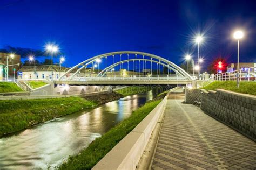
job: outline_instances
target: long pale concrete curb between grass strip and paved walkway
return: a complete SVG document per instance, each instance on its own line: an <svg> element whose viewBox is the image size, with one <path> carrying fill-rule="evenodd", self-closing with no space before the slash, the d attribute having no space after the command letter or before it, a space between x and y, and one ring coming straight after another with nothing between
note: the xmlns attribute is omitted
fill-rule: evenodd
<svg viewBox="0 0 256 170"><path fill-rule="evenodd" d="M92 169L136 169L151 133L164 112L167 96Z"/></svg>

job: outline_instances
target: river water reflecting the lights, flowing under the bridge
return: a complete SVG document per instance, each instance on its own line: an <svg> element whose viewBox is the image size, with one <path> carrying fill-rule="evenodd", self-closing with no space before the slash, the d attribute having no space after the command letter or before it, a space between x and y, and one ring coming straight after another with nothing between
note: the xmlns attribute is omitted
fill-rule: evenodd
<svg viewBox="0 0 256 170"><path fill-rule="evenodd" d="M96 109L56 118L0 138L0 169L55 167L153 97L152 91L127 96Z"/></svg>

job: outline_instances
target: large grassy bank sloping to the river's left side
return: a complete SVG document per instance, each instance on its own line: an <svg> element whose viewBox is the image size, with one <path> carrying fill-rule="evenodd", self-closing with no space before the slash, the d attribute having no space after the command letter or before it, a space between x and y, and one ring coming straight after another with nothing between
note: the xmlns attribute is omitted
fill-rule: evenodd
<svg viewBox="0 0 256 170"><path fill-rule="evenodd" d="M96 105L79 97L0 101L0 137Z"/></svg>

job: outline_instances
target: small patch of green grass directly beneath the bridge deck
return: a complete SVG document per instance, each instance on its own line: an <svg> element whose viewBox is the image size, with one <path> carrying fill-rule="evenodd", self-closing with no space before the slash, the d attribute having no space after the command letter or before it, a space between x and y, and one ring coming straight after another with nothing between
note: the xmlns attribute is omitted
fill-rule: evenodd
<svg viewBox="0 0 256 170"><path fill-rule="evenodd" d="M139 93L145 93L146 91L149 91L149 90L151 90L149 86L130 86L130 87L117 90L116 92L124 96L129 96L129 95L134 95Z"/></svg>

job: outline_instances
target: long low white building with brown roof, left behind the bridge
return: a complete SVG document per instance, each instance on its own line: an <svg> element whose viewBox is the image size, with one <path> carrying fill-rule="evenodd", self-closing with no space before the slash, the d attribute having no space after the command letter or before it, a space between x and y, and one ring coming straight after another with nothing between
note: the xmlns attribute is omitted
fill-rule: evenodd
<svg viewBox="0 0 256 170"><path fill-rule="evenodd" d="M43 80L51 80L51 65L42 65L42 66L23 66L18 70L18 79L28 80L28 79L43 79ZM53 79L59 79L61 75L63 75L70 68L62 67L59 72L59 66L53 65ZM72 70L71 73L67 74L65 77L71 77L77 68ZM75 77L91 77L97 75L96 73L92 73L91 69L82 69Z"/></svg>

